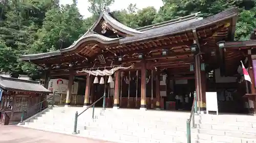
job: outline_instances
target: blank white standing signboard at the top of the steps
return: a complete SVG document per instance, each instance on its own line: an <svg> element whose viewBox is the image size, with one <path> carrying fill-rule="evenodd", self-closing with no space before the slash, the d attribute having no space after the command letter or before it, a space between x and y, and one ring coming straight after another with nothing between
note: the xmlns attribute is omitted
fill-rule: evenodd
<svg viewBox="0 0 256 143"><path fill-rule="evenodd" d="M217 92L206 92L206 112L216 111L218 113Z"/></svg>

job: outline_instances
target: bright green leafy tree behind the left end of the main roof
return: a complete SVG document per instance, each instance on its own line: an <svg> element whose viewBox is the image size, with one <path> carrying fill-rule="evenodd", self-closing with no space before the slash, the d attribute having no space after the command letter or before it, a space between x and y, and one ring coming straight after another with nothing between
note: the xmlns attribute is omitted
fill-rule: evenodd
<svg viewBox="0 0 256 143"><path fill-rule="evenodd" d="M82 26L82 15L78 11L76 2L53 8L46 13L42 28L37 32L38 40L33 43L30 52L67 48L84 33Z"/></svg>

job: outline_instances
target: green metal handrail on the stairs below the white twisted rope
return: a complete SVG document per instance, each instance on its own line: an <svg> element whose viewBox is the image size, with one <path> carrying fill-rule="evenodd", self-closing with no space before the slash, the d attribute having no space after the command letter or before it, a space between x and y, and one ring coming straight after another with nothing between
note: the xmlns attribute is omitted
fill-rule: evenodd
<svg viewBox="0 0 256 143"><path fill-rule="evenodd" d="M86 109L84 109L81 113L78 114L78 112L76 111L75 113L75 123L74 123L74 131L72 134L77 134L77 119L78 117L83 113L85 112L86 110L88 110L89 108L91 108L93 106L93 115L92 115L92 118L94 119L94 108L95 108L95 104L100 101L102 98L103 98L103 107L102 109L105 109L105 96L106 94L104 93L103 96L101 96L98 100L96 100L95 102L93 102L90 106L88 106Z"/></svg>

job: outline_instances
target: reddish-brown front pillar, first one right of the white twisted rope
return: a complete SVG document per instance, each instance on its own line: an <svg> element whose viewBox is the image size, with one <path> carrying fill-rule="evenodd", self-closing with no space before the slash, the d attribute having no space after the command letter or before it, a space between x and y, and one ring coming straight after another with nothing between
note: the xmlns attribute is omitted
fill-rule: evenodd
<svg viewBox="0 0 256 143"><path fill-rule="evenodd" d="M141 66L141 99L140 99L140 109L146 110L146 63L142 61Z"/></svg>

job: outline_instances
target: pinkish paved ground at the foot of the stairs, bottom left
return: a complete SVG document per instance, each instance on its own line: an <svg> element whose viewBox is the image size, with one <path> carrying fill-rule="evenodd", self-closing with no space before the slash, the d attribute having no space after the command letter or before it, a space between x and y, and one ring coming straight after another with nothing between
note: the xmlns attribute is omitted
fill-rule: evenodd
<svg viewBox="0 0 256 143"><path fill-rule="evenodd" d="M15 125L0 125L0 143L113 143L66 134L40 131Z"/></svg>

